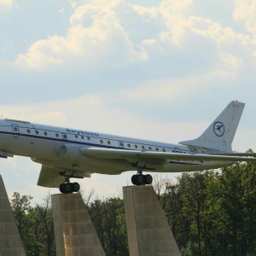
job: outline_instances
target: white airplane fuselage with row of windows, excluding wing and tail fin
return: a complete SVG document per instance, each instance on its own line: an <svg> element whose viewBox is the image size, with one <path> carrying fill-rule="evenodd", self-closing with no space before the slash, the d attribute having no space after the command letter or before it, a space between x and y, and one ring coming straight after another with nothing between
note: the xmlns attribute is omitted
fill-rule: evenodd
<svg viewBox="0 0 256 256"><path fill-rule="evenodd" d="M65 157L61 156L60 148L71 146ZM129 149L141 151L161 151L180 154L193 154L189 147L157 143L129 137L116 137L90 131L59 128L48 125L37 125L12 119L0 120L0 156L16 154L31 157L32 160L67 170L83 173L90 177L91 173L119 174L137 170L132 160L106 160L90 158L79 152L81 147ZM229 166L232 162L224 161L184 161L166 160L164 163L148 162L145 171L149 172L190 172L221 166ZM83 176L81 175L81 176Z"/></svg>

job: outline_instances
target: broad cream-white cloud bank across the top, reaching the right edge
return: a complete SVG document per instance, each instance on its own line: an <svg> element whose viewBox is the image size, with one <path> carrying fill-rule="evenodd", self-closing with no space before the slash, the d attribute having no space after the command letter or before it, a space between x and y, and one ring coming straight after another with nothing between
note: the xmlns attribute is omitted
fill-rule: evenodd
<svg viewBox="0 0 256 256"><path fill-rule="evenodd" d="M189 60L190 53L197 50L205 60L208 55L209 63L211 55L218 55L221 65L230 62L237 69L244 64L245 55L253 57L256 43L250 36L191 15L192 6L192 0L165 0L159 8L122 0L80 3L70 17L65 37L54 35L39 40L15 62L19 67L36 70L55 66L127 67L167 55L171 61L173 55ZM197 65L206 64L198 61Z"/></svg>

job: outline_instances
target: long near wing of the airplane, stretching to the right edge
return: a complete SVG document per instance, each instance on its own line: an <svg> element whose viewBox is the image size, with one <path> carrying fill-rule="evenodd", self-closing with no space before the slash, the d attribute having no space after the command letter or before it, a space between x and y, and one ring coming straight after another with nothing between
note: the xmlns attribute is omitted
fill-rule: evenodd
<svg viewBox="0 0 256 256"><path fill-rule="evenodd" d="M204 161L256 161L255 157L218 155L218 154L178 154L171 152L138 151L112 148L80 148L86 156L99 159L136 159L136 160L204 160Z"/></svg>

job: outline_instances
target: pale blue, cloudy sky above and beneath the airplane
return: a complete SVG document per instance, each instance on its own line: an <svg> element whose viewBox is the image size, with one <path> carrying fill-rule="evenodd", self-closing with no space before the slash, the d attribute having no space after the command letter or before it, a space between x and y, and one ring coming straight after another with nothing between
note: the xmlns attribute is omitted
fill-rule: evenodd
<svg viewBox="0 0 256 256"><path fill-rule="evenodd" d="M0 24L3 119L177 143L238 100L233 149L256 150L256 0L0 0ZM0 166L9 197L58 193L29 158ZM108 198L132 174L79 183Z"/></svg>

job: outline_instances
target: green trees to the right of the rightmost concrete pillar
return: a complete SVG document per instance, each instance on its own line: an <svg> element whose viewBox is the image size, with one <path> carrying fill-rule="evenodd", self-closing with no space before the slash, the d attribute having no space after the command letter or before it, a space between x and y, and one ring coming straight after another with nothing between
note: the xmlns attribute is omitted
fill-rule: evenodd
<svg viewBox="0 0 256 256"><path fill-rule="evenodd" d="M183 255L256 255L256 165L183 173L160 201Z"/></svg>

